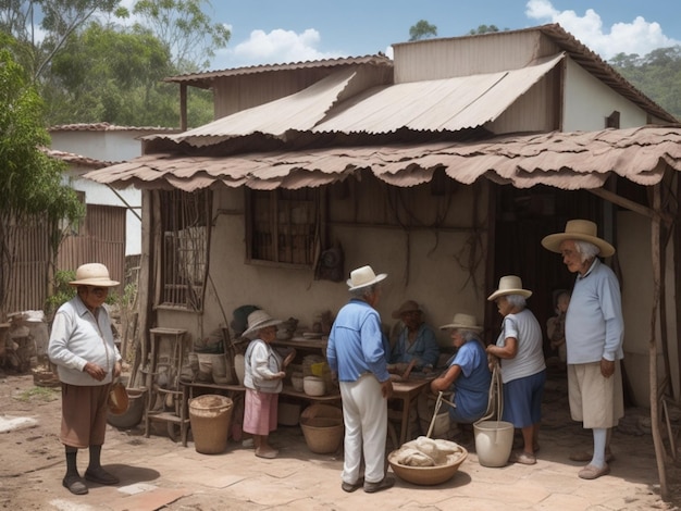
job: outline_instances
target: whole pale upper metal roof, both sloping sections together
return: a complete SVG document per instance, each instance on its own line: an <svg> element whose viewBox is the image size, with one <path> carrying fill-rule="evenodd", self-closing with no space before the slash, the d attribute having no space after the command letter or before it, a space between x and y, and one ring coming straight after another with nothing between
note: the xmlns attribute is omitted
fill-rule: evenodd
<svg viewBox="0 0 681 511"><path fill-rule="evenodd" d="M542 59L522 70L373 87L332 109L356 76L339 70L300 92L213 121L176 135L150 135L194 147L212 146L253 134L286 139L289 132L391 134L458 132L494 121L565 54Z"/></svg>

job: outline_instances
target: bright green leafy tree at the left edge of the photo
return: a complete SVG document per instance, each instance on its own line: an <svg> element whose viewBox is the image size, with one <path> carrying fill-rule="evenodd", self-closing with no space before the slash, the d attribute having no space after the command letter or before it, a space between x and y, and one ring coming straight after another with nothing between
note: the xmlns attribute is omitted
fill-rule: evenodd
<svg viewBox="0 0 681 511"><path fill-rule="evenodd" d="M0 320L22 227L36 221L47 224L55 254L60 224L76 223L84 214L75 191L62 185L64 164L41 150L49 145L44 103L7 49L10 46L9 37L0 34Z"/></svg>

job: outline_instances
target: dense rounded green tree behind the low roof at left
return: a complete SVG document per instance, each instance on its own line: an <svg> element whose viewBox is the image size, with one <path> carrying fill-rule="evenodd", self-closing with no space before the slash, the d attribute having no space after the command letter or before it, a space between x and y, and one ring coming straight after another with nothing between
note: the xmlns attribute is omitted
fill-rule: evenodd
<svg viewBox="0 0 681 511"><path fill-rule="evenodd" d="M51 66L45 97L51 124L109 122L175 126L177 91L168 50L150 30L92 22L72 34Z"/></svg>

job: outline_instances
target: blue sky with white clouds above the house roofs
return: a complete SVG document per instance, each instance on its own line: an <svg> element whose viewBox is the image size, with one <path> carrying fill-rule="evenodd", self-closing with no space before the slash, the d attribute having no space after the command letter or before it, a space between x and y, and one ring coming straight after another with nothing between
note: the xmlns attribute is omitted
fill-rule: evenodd
<svg viewBox="0 0 681 511"><path fill-rule="evenodd" d="M210 11L210 9L208 9ZM361 57L409 39L419 20L456 37L480 25L517 29L560 23L604 59L681 45L678 0L212 0L232 30L211 68Z"/></svg>

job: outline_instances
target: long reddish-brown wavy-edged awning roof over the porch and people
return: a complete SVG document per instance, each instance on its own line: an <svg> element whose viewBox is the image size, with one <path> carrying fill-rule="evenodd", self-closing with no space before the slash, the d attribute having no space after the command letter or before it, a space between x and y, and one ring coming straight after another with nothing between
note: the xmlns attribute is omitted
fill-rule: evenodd
<svg viewBox="0 0 681 511"><path fill-rule="evenodd" d="M462 184L484 176L517 188L544 184L580 189L602 187L611 173L640 185L654 185L661 179L665 164L681 171L681 125L222 158L148 154L85 176L114 187L296 189L369 170L389 185L409 187L429 182L436 169L444 169Z"/></svg>

